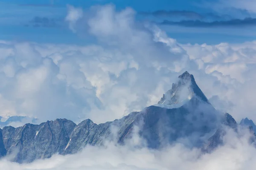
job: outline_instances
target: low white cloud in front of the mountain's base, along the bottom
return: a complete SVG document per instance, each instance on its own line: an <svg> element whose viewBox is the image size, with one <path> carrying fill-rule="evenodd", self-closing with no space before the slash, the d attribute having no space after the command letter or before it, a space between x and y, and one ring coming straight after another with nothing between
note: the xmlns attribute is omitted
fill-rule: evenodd
<svg viewBox="0 0 256 170"><path fill-rule="evenodd" d="M227 130L224 145L205 154L179 143L151 150L134 147L136 141L122 146L108 142L101 147L87 146L74 155L55 155L29 164L17 164L5 157L0 166L5 170L254 170L256 149L249 138L248 130Z"/></svg>

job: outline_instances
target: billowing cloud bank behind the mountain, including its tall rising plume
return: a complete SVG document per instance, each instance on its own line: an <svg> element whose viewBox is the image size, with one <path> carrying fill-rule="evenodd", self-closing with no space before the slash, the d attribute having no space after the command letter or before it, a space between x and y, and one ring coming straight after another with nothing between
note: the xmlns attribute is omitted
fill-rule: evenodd
<svg viewBox="0 0 256 170"><path fill-rule="evenodd" d="M249 95L256 85L255 42L179 44L135 17L131 8L92 7L73 28L85 26L77 33L87 32L98 45L1 41L0 116L112 121L156 104L187 70L208 98L228 102L222 111L256 119Z"/></svg>

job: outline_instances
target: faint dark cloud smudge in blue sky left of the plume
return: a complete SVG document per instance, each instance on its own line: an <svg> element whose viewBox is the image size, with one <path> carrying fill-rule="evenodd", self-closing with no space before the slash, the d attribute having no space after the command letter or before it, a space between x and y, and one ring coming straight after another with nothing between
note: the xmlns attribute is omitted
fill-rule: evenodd
<svg viewBox="0 0 256 170"><path fill-rule="evenodd" d="M48 17L34 17L25 26L54 28L61 26L61 19Z"/></svg>

